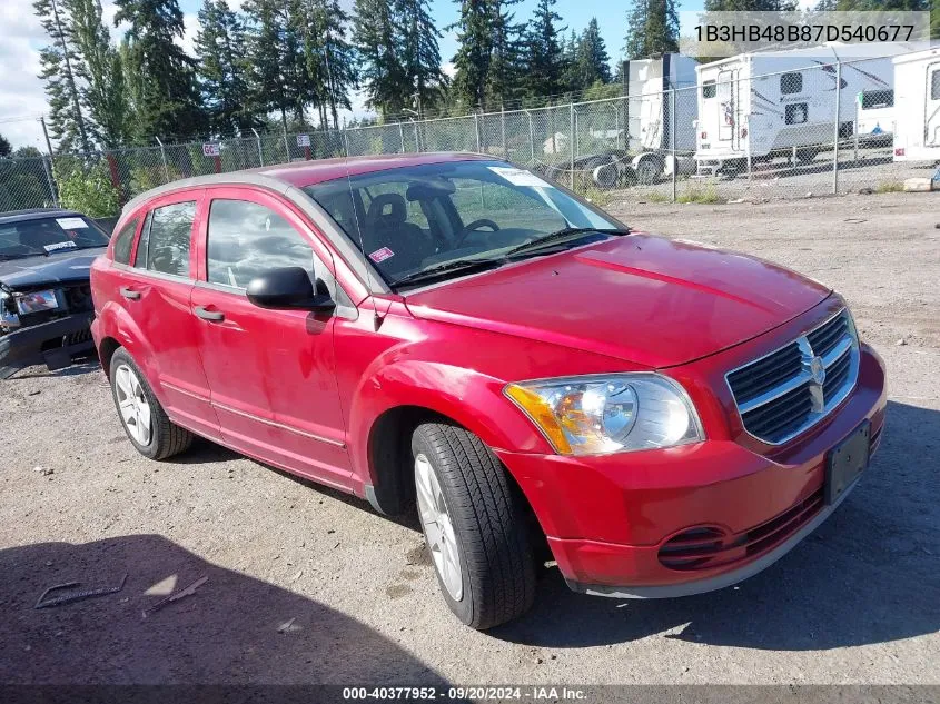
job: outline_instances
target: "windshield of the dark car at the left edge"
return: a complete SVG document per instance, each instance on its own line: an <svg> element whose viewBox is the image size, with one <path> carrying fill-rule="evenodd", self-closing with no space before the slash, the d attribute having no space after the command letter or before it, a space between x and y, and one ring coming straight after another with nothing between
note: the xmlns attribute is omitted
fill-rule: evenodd
<svg viewBox="0 0 940 704"><path fill-rule="evenodd" d="M0 222L0 259L107 247L108 237L80 216Z"/></svg>

